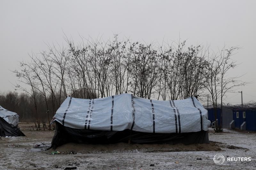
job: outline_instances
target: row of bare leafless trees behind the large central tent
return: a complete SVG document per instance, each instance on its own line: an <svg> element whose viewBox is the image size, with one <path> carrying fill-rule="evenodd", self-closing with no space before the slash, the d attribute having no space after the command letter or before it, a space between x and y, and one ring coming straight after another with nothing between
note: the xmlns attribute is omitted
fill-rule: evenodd
<svg viewBox="0 0 256 170"><path fill-rule="evenodd" d="M21 61L20 68L13 71L19 80L15 87L22 91L18 100L28 101L30 118L50 121L68 96L132 93L178 100L210 94L211 103L217 106L233 87L244 84L239 77L227 76L237 66L231 56L239 47L213 52L209 46L187 47L181 40L146 44L118 35L107 41L82 39L75 44L67 37L65 41L66 46L48 45L48 50L30 54L29 61Z"/></svg>

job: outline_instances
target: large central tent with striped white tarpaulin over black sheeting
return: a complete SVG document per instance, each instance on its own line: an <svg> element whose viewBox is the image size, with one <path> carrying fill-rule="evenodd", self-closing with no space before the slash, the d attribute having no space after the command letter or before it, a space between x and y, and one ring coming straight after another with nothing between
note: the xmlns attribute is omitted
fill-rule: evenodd
<svg viewBox="0 0 256 170"><path fill-rule="evenodd" d="M73 143L209 143L208 112L196 97L158 101L131 94L67 97L52 123L52 147Z"/></svg>

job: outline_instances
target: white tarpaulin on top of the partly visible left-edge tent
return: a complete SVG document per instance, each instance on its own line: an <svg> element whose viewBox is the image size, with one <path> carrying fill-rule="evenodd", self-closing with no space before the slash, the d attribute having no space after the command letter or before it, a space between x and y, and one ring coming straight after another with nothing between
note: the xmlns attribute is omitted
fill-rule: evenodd
<svg viewBox="0 0 256 170"><path fill-rule="evenodd" d="M17 126L19 123L19 115L15 112L8 111L0 106L0 117L4 118L9 124Z"/></svg>

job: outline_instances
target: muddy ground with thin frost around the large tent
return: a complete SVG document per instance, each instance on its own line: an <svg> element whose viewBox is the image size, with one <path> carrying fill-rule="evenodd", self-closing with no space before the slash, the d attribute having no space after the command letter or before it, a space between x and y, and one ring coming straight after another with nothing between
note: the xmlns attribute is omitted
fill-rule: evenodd
<svg viewBox="0 0 256 170"><path fill-rule="evenodd" d="M86 145L68 143L42 151L51 144L54 131L33 131L32 124L20 123L26 137L0 139L0 169L254 169L256 133L224 129L213 133L210 144L128 144ZM36 146L36 147L35 147ZM41 148L42 147L42 148ZM216 165L216 154L251 157L250 162ZM227 159L226 159L227 160ZM152 166L154 164L154 166ZM151 165L151 166L150 166Z"/></svg>

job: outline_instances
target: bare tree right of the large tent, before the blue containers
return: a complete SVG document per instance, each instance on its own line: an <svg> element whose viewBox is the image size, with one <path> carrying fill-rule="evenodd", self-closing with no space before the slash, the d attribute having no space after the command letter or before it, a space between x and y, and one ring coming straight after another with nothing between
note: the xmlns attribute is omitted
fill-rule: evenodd
<svg viewBox="0 0 256 170"><path fill-rule="evenodd" d="M223 107L223 97L225 97L227 92L233 92L234 87L247 84L246 82L240 81L241 76L230 77L228 76L228 71L235 68L236 61L232 60L233 52L238 50L239 47L230 47L225 49L224 46L218 53L214 54L209 61L208 65L208 80L206 89L210 92L212 96L212 104L215 112L215 124L216 132L222 131L222 107ZM220 100L220 125L217 121L217 102Z"/></svg>

